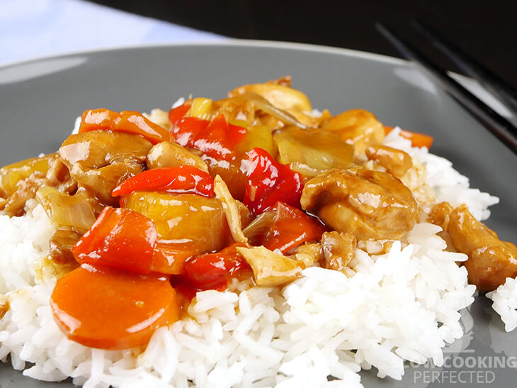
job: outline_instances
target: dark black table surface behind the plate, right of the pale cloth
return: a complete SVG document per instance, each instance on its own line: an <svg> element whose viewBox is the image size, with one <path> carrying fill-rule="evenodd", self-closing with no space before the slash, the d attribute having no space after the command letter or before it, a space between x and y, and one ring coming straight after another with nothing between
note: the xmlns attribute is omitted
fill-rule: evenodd
<svg viewBox="0 0 517 388"><path fill-rule="evenodd" d="M233 38L285 40L399 56L375 30L378 21L458 69L409 27L419 18L517 87L516 0L252 1L94 0L98 4Z"/></svg>

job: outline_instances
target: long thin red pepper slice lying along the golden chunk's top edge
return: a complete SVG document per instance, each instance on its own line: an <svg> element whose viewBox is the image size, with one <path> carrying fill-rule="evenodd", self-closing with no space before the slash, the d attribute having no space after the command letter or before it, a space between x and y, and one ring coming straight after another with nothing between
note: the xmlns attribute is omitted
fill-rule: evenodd
<svg viewBox="0 0 517 388"><path fill-rule="evenodd" d="M179 194L198 194L214 196L214 179L198 167L183 165L162 167L136 174L119 184L112 196L131 194L132 192L169 192Z"/></svg>

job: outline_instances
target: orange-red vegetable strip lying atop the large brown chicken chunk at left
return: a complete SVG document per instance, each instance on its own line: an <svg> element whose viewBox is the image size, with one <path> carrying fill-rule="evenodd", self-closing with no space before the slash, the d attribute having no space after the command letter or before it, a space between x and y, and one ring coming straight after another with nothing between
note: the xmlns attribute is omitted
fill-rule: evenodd
<svg viewBox="0 0 517 388"><path fill-rule="evenodd" d="M81 116L79 133L98 129L120 131L141 135L153 144L171 140L172 136L161 126L149 121L142 113L122 111L120 113L108 109L90 109Z"/></svg>

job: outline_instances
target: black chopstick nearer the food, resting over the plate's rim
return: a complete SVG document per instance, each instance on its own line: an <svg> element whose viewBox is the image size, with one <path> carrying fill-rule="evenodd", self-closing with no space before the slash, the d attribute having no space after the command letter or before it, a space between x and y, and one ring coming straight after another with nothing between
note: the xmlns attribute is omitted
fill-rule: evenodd
<svg viewBox="0 0 517 388"><path fill-rule="evenodd" d="M454 97L472 116L477 118L492 134L496 135L510 150L517 154L517 128L506 118L496 113L487 104L469 92L465 87L449 77L447 72L435 65L419 50L412 47L381 23L375 25L377 30L396 48L407 60L411 60L445 91Z"/></svg>

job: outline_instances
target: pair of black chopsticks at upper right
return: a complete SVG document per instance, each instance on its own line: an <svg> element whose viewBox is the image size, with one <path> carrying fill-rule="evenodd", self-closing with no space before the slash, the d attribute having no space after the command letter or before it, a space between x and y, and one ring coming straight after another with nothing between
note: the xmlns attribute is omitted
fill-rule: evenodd
<svg viewBox="0 0 517 388"><path fill-rule="evenodd" d="M477 79L482 86L491 92L501 104L517 116L517 92L509 84L506 84L495 74L462 52L453 43L448 42L432 28L422 22L413 21L412 26L427 40L441 50L468 76ZM513 153L517 154L517 128L499 113L496 113L487 104L462 87L455 79L450 77L446 70L429 60L421 51L411 46L381 23L375 25L377 30L402 54L407 60L414 62L417 67L428 74L431 79L440 84L448 94L453 96L472 116L477 118L490 132L496 135Z"/></svg>

